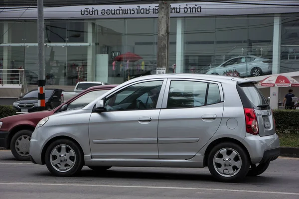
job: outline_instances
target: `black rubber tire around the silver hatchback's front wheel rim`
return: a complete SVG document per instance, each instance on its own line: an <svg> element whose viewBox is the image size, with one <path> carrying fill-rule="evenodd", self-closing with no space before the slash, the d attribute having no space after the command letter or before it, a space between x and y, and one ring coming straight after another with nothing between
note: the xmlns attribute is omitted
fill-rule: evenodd
<svg viewBox="0 0 299 199"><path fill-rule="evenodd" d="M75 154L75 158L76 158L73 167L70 168L70 170L65 171L65 172L57 171L54 168L54 166L52 166L51 161L50 161L50 157L52 158L52 156L51 156L52 150L54 148L58 147L59 145L67 145L67 146L71 147ZM59 157L57 157L57 158L59 158ZM76 144L75 142L73 142L69 139L58 139L58 140L55 140L54 142L52 142L48 146L48 148L46 150L46 154L45 154L45 163L46 163L48 170L54 176L59 176L59 177L76 176L81 171L81 169L84 165L84 155L83 155L83 152L82 152L80 146L78 144Z"/></svg>

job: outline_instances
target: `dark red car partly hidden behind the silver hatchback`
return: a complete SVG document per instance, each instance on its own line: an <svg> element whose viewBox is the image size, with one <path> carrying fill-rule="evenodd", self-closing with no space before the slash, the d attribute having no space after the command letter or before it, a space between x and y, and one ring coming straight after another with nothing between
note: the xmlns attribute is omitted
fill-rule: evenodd
<svg viewBox="0 0 299 199"><path fill-rule="evenodd" d="M10 149L17 160L30 160L30 137L36 124L44 117L65 110L78 109L106 93L116 85L96 86L85 90L53 110L13 115L0 119L0 147Z"/></svg>

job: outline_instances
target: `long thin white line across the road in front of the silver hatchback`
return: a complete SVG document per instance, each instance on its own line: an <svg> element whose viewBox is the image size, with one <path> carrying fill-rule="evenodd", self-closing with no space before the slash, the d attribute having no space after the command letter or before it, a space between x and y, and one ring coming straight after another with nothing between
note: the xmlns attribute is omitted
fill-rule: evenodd
<svg viewBox="0 0 299 199"><path fill-rule="evenodd" d="M201 190L201 191L219 191L219 192L243 192L243 193L259 193L259 194L280 194L280 195L296 195L299 193L289 192L267 192L267 191L251 191L251 190L228 190L228 189L210 189L210 188L189 188L189 187L153 187L153 186L122 186L122 185L92 185L92 184L52 184L52 183L0 183L0 185L30 185L30 186L68 186L68 187L110 187L110 188L145 188L145 189L171 189L171 190Z"/></svg>

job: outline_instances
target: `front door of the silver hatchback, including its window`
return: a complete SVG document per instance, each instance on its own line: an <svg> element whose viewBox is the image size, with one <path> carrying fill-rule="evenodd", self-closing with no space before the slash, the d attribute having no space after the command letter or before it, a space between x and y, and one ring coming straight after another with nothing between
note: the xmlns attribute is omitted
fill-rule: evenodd
<svg viewBox="0 0 299 199"><path fill-rule="evenodd" d="M108 96L104 112L90 117L92 158L158 158L158 117L165 86L163 79L145 81Z"/></svg>

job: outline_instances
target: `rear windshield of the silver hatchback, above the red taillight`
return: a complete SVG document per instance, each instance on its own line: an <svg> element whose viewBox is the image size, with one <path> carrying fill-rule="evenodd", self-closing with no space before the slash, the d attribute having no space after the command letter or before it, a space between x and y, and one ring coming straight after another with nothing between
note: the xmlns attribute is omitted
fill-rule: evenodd
<svg viewBox="0 0 299 199"><path fill-rule="evenodd" d="M241 84L239 88L244 92L248 100L255 105L268 104L263 94L254 84Z"/></svg>

